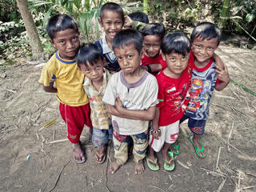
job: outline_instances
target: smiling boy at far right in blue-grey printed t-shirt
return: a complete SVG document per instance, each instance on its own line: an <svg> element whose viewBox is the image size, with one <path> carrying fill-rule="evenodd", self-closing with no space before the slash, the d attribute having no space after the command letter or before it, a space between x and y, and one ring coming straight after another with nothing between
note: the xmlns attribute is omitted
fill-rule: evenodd
<svg viewBox="0 0 256 192"><path fill-rule="evenodd" d="M206 157L204 146L199 142L209 116L210 98L215 90L223 90L230 82L226 66L217 66L213 60L214 50L221 39L221 30L210 22L194 27L191 34L193 62L190 102L181 120L189 119L188 126L193 133L190 142L199 158Z"/></svg>

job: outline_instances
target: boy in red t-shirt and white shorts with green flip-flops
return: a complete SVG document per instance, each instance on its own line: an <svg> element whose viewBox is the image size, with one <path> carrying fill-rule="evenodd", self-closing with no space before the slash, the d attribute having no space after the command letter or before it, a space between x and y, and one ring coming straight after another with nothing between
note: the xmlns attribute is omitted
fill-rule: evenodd
<svg viewBox="0 0 256 192"><path fill-rule="evenodd" d="M150 129L150 146L146 162L150 170L159 170L154 151L162 149L164 170L172 171L174 153L168 152L170 144L176 142L179 120L189 101L189 87L192 73L190 39L183 33L167 34L162 40L162 58L167 66L158 75L158 106Z"/></svg>

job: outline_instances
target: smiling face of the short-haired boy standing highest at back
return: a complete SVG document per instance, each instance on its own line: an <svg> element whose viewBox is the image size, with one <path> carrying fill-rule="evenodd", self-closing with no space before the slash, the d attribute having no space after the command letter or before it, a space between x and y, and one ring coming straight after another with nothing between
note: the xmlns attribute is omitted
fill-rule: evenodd
<svg viewBox="0 0 256 192"><path fill-rule="evenodd" d="M122 15L113 10L105 10L102 19L98 18L98 22L105 31L107 42L112 42L123 26Z"/></svg>

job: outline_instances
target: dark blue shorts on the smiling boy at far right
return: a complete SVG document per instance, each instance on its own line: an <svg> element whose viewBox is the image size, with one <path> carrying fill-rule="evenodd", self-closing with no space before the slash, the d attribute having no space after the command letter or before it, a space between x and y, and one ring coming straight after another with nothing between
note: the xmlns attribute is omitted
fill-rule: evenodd
<svg viewBox="0 0 256 192"><path fill-rule="evenodd" d="M187 118L189 119L188 126L189 126L190 130L192 131L192 133L198 134L198 135L204 134L206 120L196 120L196 119L190 118L186 114L184 114L179 123L184 122Z"/></svg>

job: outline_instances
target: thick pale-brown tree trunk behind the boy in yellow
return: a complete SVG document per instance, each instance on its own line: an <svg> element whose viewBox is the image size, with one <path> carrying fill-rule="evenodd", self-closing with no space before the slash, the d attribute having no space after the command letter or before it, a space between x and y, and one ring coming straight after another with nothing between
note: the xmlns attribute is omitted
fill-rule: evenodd
<svg viewBox="0 0 256 192"><path fill-rule="evenodd" d="M32 60L38 60L44 58L42 43L40 41L38 30L35 27L34 19L29 11L27 0L16 0L18 9L22 14L22 20L24 22L26 33L30 39L30 46L32 49Z"/></svg>

